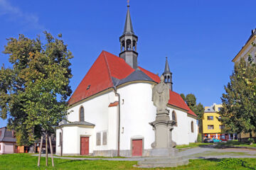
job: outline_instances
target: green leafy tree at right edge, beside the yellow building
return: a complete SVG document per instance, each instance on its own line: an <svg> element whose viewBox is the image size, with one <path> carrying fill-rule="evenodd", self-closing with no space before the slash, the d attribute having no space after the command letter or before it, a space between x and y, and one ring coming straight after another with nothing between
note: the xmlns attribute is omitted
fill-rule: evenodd
<svg viewBox="0 0 256 170"><path fill-rule="evenodd" d="M235 64L230 82L225 86L221 97L223 108L220 109L221 122L226 132L250 133L256 128L255 89L250 88L247 80L255 81L256 69L252 64L241 59Z"/></svg>

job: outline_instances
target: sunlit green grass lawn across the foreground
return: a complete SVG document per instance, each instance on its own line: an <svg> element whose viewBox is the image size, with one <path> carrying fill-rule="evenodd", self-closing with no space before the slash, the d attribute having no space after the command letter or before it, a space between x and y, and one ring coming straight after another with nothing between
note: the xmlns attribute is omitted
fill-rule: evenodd
<svg viewBox="0 0 256 170"><path fill-rule="evenodd" d="M45 158L41 159L41 167L36 166L38 157L33 157L31 154L4 154L0 155L0 170L9 169L46 169ZM194 159L190 160L190 164L186 166L178 166L176 168L166 169L255 169L256 159L235 159L246 164L232 163L228 160L220 164L223 159ZM70 159L54 159L55 168L48 166L47 169L139 169L133 167L137 162L117 162L103 160L70 160ZM49 160L49 163L51 161ZM230 163L231 162L231 163ZM49 164L50 165L50 164ZM160 169L160 168L156 168ZM146 169L147 170L147 169Z"/></svg>

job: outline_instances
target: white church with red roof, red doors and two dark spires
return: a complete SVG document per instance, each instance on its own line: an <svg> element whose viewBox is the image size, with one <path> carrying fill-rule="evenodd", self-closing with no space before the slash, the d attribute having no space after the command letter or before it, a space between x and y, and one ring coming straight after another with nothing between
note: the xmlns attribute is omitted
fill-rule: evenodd
<svg viewBox="0 0 256 170"><path fill-rule="evenodd" d="M56 129L56 154L146 157L152 149L156 118L151 101L158 75L137 65L137 35L127 9L119 57L102 51L70 97L67 120ZM172 91L172 73L166 59L167 108L176 121L172 139L177 145L196 142L197 116L179 94Z"/></svg>

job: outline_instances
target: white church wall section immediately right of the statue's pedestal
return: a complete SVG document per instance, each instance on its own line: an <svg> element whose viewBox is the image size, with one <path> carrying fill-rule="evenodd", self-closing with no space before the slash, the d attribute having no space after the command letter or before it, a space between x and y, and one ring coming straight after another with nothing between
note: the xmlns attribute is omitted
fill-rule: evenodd
<svg viewBox="0 0 256 170"><path fill-rule="evenodd" d="M174 126L174 130L172 130L172 138L177 145L188 145L188 116L187 113L177 110L168 108L170 111L170 119L171 113L173 111L176 112L177 117L177 126Z"/></svg>

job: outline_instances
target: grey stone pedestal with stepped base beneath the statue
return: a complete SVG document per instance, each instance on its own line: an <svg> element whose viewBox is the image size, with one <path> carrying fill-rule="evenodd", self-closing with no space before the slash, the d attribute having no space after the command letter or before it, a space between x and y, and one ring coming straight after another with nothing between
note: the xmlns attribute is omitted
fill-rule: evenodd
<svg viewBox="0 0 256 170"><path fill-rule="evenodd" d="M138 162L137 167L174 167L188 164L188 159L178 156L176 142L171 140L171 130L174 129L174 120L170 120L169 111L159 111L156 113L156 120L149 123L155 132L155 141L151 144L149 158Z"/></svg>

